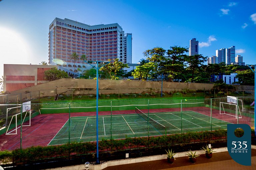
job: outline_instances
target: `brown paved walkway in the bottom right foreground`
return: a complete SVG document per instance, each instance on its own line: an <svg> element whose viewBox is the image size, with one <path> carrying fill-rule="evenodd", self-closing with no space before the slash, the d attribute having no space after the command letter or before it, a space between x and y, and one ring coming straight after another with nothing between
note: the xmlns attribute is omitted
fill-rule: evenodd
<svg viewBox="0 0 256 170"><path fill-rule="evenodd" d="M133 163L127 165L110 166L104 170L256 170L256 149L252 149L252 165L243 166L236 163L228 152L213 153L211 159L205 155L197 157L197 162L192 164L188 157L176 158L173 164L167 163L166 159Z"/></svg>

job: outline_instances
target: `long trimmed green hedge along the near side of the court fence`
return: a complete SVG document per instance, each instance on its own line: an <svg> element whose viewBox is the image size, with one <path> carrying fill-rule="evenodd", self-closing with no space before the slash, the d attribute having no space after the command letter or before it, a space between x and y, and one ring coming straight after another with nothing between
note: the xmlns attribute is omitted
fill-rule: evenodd
<svg viewBox="0 0 256 170"><path fill-rule="evenodd" d="M237 136L243 135L243 130L235 131ZM252 130L252 135L254 131ZM135 137L120 140L105 140L99 141L100 154L114 153L120 150L154 150L154 148L171 148L173 146L183 147L197 143L217 143L222 141L226 143L227 130L203 131L174 134L167 136L155 137ZM193 149L193 148L192 148ZM1 151L0 163L31 164L42 163L58 160L70 160L90 155L94 157L96 152L95 142L80 142L56 146L34 146L25 149L16 149L13 151Z"/></svg>

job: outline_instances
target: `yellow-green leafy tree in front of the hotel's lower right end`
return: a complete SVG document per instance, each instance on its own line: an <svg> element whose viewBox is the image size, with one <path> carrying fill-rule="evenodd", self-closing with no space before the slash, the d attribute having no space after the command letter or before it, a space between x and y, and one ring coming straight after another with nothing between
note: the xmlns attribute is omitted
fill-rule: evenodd
<svg viewBox="0 0 256 170"><path fill-rule="evenodd" d="M111 80L117 80L119 79L117 77L118 73L120 73L120 70L122 68L129 68L128 64L124 64L121 61L119 61L118 58L115 58L113 60L113 62L111 62L111 60L109 60L109 64L103 66L100 68L100 71L104 71L107 72L109 74L109 77L111 78Z"/></svg>

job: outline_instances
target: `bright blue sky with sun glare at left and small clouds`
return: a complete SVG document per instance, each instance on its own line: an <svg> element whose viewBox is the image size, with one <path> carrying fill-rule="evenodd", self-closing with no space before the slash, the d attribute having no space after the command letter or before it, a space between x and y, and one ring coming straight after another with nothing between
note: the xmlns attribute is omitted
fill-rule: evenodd
<svg viewBox="0 0 256 170"><path fill-rule="evenodd" d="M132 33L133 63L146 49L189 47L196 38L204 56L234 45L246 64L256 64L255 0L0 0L0 16L0 76L3 64L48 62L48 31L55 17L118 23Z"/></svg>

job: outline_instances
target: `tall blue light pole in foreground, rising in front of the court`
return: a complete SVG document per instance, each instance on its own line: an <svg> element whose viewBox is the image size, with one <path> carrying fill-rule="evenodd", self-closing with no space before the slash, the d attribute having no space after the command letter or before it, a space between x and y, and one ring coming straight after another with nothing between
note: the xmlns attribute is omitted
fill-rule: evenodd
<svg viewBox="0 0 256 170"><path fill-rule="evenodd" d="M86 60L86 63L90 64L92 67L96 68L96 78L97 78L97 83L96 83L96 150L97 150L97 155L96 155L96 163L95 164L100 164L99 161L99 122L98 122L98 100L99 100L99 68L107 65L109 61L90 61ZM99 63L103 63L102 66L99 67ZM92 64L96 64L92 65Z"/></svg>

